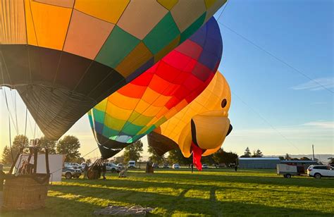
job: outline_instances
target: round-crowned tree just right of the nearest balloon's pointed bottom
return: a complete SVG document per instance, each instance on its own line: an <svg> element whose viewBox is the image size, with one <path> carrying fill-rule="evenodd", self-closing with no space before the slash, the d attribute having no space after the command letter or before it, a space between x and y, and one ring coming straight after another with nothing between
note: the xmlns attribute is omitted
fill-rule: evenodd
<svg viewBox="0 0 334 217"><path fill-rule="evenodd" d="M66 154L65 161L76 161L80 157L80 142L77 137L67 135L63 140L59 140L56 144L58 154Z"/></svg>

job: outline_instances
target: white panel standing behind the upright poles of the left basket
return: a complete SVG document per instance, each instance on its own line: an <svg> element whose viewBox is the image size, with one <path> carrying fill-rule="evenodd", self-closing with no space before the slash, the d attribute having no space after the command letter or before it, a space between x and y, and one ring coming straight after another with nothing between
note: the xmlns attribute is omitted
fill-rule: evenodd
<svg viewBox="0 0 334 217"><path fill-rule="evenodd" d="M22 165L22 162L28 158L28 154L21 154L16 162L16 171ZM50 182L61 182L61 174L63 170L63 154L49 154ZM34 156L31 157L30 163L34 163ZM45 154L37 155L37 173L47 173L47 164L45 163Z"/></svg>

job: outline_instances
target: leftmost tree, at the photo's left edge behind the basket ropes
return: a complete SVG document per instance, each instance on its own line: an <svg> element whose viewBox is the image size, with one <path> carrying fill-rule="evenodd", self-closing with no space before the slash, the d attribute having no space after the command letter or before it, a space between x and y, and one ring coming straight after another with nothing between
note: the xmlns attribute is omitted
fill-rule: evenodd
<svg viewBox="0 0 334 217"><path fill-rule="evenodd" d="M13 159L16 158L18 151L21 147L27 147L29 140L25 135L17 135L14 137L11 147L6 146L2 152L2 160L4 163L13 163ZM25 149L27 151L27 149Z"/></svg>

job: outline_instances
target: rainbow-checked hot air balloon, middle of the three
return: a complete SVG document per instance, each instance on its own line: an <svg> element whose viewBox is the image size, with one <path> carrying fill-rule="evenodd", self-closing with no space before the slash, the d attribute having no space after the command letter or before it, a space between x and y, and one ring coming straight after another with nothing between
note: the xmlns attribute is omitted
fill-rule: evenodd
<svg viewBox="0 0 334 217"><path fill-rule="evenodd" d="M214 77L223 45L211 18L171 53L89 112L102 158L159 127L195 99Z"/></svg>

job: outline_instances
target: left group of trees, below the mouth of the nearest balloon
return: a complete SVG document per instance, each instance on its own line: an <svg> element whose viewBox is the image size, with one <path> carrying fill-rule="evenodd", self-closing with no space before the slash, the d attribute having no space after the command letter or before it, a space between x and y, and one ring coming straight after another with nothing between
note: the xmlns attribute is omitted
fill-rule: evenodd
<svg viewBox="0 0 334 217"><path fill-rule="evenodd" d="M47 140L45 137L40 137L37 140L37 147L39 154L44 154L45 148L49 150L49 154L65 154L65 162L77 162L82 163L85 161L80 156L80 142L77 137L73 135L67 135L63 139L56 141ZM17 135L11 144L11 147L6 146L2 151L3 163L13 163L16 155L21 148L23 152L29 153L29 139L25 135Z"/></svg>

